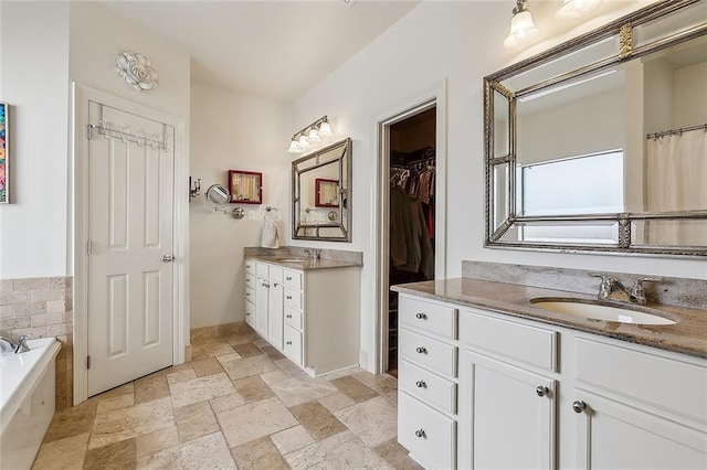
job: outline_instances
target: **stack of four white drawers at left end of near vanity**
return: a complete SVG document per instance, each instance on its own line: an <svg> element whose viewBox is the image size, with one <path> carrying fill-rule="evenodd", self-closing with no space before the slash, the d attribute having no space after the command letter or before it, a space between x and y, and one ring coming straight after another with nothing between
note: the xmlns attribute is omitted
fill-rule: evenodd
<svg viewBox="0 0 707 470"><path fill-rule="evenodd" d="M456 464L457 314L399 297L398 440L425 468Z"/></svg>

